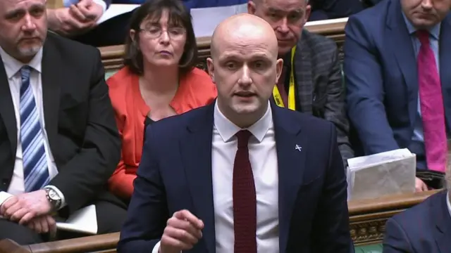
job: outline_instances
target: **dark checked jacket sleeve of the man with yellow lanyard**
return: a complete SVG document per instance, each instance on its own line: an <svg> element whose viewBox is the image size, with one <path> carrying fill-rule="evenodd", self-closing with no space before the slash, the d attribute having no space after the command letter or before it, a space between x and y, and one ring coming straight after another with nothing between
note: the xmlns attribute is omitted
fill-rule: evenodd
<svg viewBox="0 0 451 253"><path fill-rule="evenodd" d="M332 67L326 89L327 103L324 110L324 119L335 124L343 164L347 164L347 160L354 157L354 151L352 151L349 139L350 124L346 115L345 87L342 84L338 50L333 53Z"/></svg>

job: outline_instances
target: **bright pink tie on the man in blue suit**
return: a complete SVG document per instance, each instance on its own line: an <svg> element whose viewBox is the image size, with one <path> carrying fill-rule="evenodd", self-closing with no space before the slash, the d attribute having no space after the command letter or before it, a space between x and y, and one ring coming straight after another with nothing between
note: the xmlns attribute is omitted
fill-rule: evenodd
<svg viewBox="0 0 451 253"><path fill-rule="evenodd" d="M419 30L418 81L424 145L428 169L445 172L447 141L442 87L435 56L429 45L429 32Z"/></svg>

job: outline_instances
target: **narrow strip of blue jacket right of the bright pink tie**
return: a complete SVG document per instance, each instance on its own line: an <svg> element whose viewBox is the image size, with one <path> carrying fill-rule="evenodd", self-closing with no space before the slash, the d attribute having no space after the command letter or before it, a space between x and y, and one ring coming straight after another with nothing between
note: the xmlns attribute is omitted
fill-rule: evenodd
<svg viewBox="0 0 451 253"><path fill-rule="evenodd" d="M451 14L447 15L445 20L442 21L440 27L440 82L442 84L443 104L450 105L451 101L447 96L447 90L451 89ZM450 108L445 106L445 115L450 115ZM451 126L451 117L447 117L447 125Z"/></svg>

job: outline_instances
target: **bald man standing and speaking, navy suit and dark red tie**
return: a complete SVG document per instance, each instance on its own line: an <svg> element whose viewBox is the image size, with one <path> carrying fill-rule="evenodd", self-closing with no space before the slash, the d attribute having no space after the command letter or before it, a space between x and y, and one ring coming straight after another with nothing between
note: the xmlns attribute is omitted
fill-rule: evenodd
<svg viewBox="0 0 451 253"><path fill-rule="evenodd" d="M270 102L271 26L235 15L211 50L218 98L148 127L118 252L352 252L335 126Z"/></svg>

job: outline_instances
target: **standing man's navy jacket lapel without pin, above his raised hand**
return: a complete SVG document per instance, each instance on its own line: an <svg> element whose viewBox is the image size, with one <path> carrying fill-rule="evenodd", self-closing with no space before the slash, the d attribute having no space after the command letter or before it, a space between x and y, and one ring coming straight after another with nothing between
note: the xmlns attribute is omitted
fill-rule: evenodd
<svg viewBox="0 0 451 253"><path fill-rule="evenodd" d="M203 238L210 253L216 252L213 183L211 176L211 145L213 139L214 105L211 103L199 119L188 126L187 134L180 141L182 155L190 188L193 214L204 221Z"/></svg>

